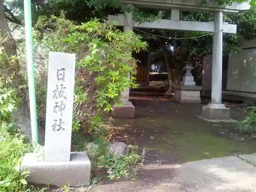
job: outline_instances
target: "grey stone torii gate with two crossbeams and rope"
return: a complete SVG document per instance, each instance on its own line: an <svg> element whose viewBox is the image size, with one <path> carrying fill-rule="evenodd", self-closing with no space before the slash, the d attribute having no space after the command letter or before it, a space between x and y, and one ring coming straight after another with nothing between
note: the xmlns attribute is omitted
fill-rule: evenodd
<svg viewBox="0 0 256 192"><path fill-rule="evenodd" d="M172 29L187 31L215 32L212 47L212 91L211 103L203 106L202 117L206 119L230 119L230 109L222 103L222 46L223 33L236 33L237 25L223 23L223 12L234 14L248 10L249 3L233 3L230 6L220 7L212 0L203 6L202 0L124 0L124 3L136 4L141 7L158 9L171 9L170 19L159 19L154 22L136 23L131 13L124 15L109 15L109 21L116 21L118 26L124 27L125 31L133 31L133 27L152 29ZM193 22L180 20L181 11L214 12L214 22ZM129 89L122 93L124 106L114 108L114 116L134 118L135 107L129 102Z"/></svg>

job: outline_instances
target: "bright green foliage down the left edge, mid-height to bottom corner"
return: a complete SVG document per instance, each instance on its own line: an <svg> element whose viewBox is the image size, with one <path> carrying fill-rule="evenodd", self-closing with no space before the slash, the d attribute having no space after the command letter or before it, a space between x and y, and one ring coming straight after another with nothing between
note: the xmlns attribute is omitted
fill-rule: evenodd
<svg viewBox="0 0 256 192"><path fill-rule="evenodd" d="M10 66L12 58L8 59ZM0 49L0 61L4 63L5 59L4 49ZM26 188L28 172L20 170L20 158L30 151L30 144L12 124L12 113L19 101L12 75L1 67L0 74L0 191L16 192Z"/></svg>

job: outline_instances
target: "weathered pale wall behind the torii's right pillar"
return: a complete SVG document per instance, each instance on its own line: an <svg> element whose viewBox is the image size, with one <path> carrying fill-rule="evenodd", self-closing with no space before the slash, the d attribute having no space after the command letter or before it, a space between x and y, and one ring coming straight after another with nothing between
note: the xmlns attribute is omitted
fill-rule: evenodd
<svg viewBox="0 0 256 192"><path fill-rule="evenodd" d="M256 39L245 41L241 48L244 50L231 54L228 59L226 91L223 93L256 98ZM209 54L203 61L202 87L205 91L211 91L211 68L212 55Z"/></svg>

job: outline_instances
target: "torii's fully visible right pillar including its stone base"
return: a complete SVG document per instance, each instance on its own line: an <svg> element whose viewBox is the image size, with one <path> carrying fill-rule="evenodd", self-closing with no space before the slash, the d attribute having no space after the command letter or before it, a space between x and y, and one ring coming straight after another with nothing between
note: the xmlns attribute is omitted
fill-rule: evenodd
<svg viewBox="0 0 256 192"><path fill-rule="evenodd" d="M203 106L202 116L206 119L230 119L230 109L222 104L222 47L223 13L215 12L215 31L212 49L211 103Z"/></svg>

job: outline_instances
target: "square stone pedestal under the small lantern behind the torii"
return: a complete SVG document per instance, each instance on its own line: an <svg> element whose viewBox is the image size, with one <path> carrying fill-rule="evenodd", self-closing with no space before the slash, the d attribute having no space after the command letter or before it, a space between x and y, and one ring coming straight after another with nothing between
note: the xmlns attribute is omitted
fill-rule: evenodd
<svg viewBox="0 0 256 192"><path fill-rule="evenodd" d="M177 86L175 90L175 101L179 103L201 103L201 86Z"/></svg>

